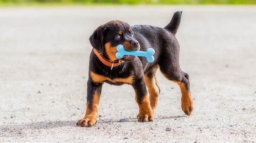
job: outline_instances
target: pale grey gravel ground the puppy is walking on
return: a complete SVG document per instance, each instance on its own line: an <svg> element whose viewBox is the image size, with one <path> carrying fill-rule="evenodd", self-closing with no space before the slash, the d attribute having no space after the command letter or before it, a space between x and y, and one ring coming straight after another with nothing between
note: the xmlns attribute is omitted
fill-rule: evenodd
<svg viewBox="0 0 256 143"><path fill-rule="evenodd" d="M164 27L176 11L191 116L158 72L153 122L136 122L131 86L104 84L97 124L77 127L94 29L110 20ZM255 6L0 8L0 142L256 142L255 15Z"/></svg>

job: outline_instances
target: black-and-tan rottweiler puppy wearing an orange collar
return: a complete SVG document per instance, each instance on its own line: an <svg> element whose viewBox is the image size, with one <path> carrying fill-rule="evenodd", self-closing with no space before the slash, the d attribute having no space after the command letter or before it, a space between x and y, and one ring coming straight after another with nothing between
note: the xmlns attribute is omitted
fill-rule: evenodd
<svg viewBox="0 0 256 143"><path fill-rule="evenodd" d="M99 26L93 32L89 38L93 50L89 59L86 114L83 119L78 120L77 126L90 127L96 123L101 89L105 82L133 86L135 100L139 105L138 121L152 121L160 93L156 78L158 68L165 78L180 86L182 110L187 115L191 114L193 101L189 77L180 69L180 47L175 38L181 14L182 12L176 12L164 28L149 25L129 26L125 22L115 20ZM127 51L147 51L148 48L153 48L156 51L155 60L149 63L145 57L129 55L117 59L116 46L119 44Z"/></svg>

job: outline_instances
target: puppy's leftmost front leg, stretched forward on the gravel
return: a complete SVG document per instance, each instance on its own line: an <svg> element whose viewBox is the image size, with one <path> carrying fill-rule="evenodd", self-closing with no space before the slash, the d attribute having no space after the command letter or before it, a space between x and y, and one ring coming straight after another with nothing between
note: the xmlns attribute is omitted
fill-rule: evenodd
<svg viewBox="0 0 256 143"><path fill-rule="evenodd" d="M90 78L87 82L87 104L83 119L78 120L77 126L91 127L97 122L98 108L102 83L94 83Z"/></svg>

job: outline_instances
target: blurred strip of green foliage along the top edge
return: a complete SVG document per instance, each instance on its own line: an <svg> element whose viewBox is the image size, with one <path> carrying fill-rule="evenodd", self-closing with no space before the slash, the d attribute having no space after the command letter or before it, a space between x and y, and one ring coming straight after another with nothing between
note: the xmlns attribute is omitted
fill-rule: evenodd
<svg viewBox="0 0 256 143"><path fill-rule="evenodd" d="M242 4L242 5L256 5L256 0L0 0L2 4L116 4L116 5L168 5L168 4L213 4L213 5L227 5L227 4Z"/></svg>

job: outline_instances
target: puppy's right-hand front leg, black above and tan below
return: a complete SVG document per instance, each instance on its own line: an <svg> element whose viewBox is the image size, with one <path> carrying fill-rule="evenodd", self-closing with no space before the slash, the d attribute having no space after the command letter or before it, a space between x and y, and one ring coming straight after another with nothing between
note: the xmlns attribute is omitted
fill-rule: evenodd
<svg viewBox="0 0 256 143"><path fill-rule="evenodd" d="M134 81L133 88L135 90L135 100L139 105L139 122L153 121L153 110L150 106L150 100L148 98L148 92L145 84L144 77L138 78Z"/></svg>

